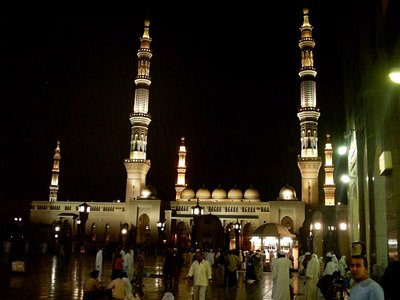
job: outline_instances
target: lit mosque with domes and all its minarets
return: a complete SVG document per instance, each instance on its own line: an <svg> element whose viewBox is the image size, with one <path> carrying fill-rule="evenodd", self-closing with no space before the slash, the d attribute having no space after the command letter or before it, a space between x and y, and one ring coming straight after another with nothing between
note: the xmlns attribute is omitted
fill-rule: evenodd
<svg viewBox="0 0 400 300"><path fill-rule="evenodd" d="M181 248L261 249L266 253L284 250L297 256L299 249L305 251L307 246L321 255L322 234L319 239L315 235L313 244L310 244L309 237L316 229L312 227L313 222L322 218L321 206L337 207L333 150L327 135L325 201L321 205L318 176L322 159L318 156L320 112L315 92L315 41L308 10L304 9L303 14L299 40L301 106L297 113L301 139L298 155L302 178L301 199L297 198L296 191L290 185L282 187L276 199L260 199L258 191L253 187L245 191L236 187L230 190L218 187L212 191L206 187L192 189L186 184L186 170L190 168L186 165L186 155L190 156L190 153L186 151L185 137L180 137L177 153L175 199L159 199L154 188L146 185L146 175L151 167L146 151L151 122L148 107L150 60L153 55L150 47L150 22L146 20L137 52L134 107L129 116L131 136L130 155L124 160L127 172L125 200L89 203L59 201L57 192L61 143L58 141L49 199L31 203L30 223L48 224L51 230L47 238L54 243L70 239L74 245L77 237L78 251L85 251L85 245L89 244L119 243L146 247L168 245ZM304 242L302 235L305 237Z"/></svg>

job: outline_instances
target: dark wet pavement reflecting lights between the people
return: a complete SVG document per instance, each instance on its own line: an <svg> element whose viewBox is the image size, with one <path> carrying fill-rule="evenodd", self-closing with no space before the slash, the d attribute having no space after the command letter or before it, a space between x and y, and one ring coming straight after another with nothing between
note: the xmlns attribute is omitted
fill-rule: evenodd
<svg viewBox="0 0 400 300"><path fill-rule="evenodd" d="M32 255L26 259L25 272L10 272L7 257L2 256L0 264L0 299L17 300L80 300L83 298L83 284L94 268L95 257L92 255L74 255L69 259L61 259L55 255ZM145 270L147 276L143 280L142 300L161 300L164 294L162 280L163 257L146 257ZM178 286L174 290L175 299L192 298L193 287L186 279L188 268L183 268ZM295 273L295 292L298 280ZM107 284L111 277L111 261L105 260L102 283ZM271 299L271 273L264 272L258 283L245 283L244 271L239 272L238 286L233 288L210 286L206 299L229 300L267 300ZM302 286L302 284L300 284ZM107 299L106 297L104 299ZM295 296L304 299L304 296Z"/></svg>

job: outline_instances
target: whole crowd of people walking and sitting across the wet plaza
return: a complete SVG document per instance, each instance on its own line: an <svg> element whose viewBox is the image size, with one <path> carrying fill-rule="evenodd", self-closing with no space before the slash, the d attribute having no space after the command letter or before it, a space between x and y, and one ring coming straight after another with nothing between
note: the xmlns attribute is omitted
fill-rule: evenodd
<svg viewBox="0 0 400 300"><path fill-rule="evenodd" d="M137 257L132 248L119 247L113 255L111 281L103 284L103 248L96 253L95 269L84 284L84 299L98 299L98 295L109 295L111 299L139 300L144 277L144 253ZM293 282L294 258L291 253L280 251L277 257L270 256L269 271L273 282L272 299L294 299ZM169 248L164 253L163 300L174 299L174 293L182 280L182 270L187 272L193 284L193 299L206 299L210 285L235 288L238 285L238 271L244 271L243 280L247 284L257 284L263 276L265 256L260 250L244 252L220 249L213 251L179 251ZM373 268L374 270L377 268ZM397 299L395 280L400 275L400 262L394 261L380 274L379 280L369 276L365 255L352 255L350 259L327 252L324 257L305 252L298 258L298 287L296 292L306 300L323 299Z"/></svg>

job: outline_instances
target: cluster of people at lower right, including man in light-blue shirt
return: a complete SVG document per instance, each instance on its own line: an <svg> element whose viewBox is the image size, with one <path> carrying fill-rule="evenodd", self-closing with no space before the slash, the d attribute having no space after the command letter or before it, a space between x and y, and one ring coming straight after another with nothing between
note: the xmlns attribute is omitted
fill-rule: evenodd
<svg viewBox="0 0 400 300"><path fill-rule="evenodd" d="M377 269L372 268L372 270ZM299 257L299 293L305 299L392 300L398 299L395 281L400 275L400 262L392 261L379 280L370 277L365 253L342 255L338 260L332 252L319 257L310 252ZM303 281L301 280L303 279ZM288 299L288 298L273 298ZM293 298L292 298L293 299Z"/></svg>

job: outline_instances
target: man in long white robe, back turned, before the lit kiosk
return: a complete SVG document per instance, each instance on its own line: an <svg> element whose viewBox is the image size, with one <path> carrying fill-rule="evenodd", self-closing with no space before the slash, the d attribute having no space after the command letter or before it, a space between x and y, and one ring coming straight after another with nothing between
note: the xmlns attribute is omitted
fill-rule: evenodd
<svg viewBox="0 0 400 300"><path fill-rule="evenodd" d="M278 258L271 265L272 299L290 299L290 272L293 268L292 261L286 257L284 251L278 252Z"/></svg>

